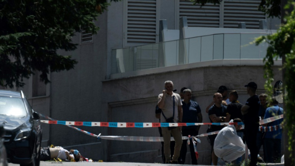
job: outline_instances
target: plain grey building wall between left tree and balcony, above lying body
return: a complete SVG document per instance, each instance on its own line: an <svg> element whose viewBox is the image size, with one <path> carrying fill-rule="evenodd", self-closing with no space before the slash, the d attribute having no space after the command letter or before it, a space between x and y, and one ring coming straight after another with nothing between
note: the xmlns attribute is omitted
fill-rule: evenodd
<svg viewBox="0 0 295 166"><path fill-rule="evenodd" d="M95 24L100 27L93 42L80 44L77 33L73 42L77 49L71 55L78 61L75 69L51 74L51 117L61 121L103 121L101 110L102 80L107 70L107 15L103 13ZM44 124L47 125L47 124ZM103 128L78 126L91 133L102 133ZM78 149L85 157L103 159L101 141L63 125L50 125L50 144L66 149Z"/></svg>

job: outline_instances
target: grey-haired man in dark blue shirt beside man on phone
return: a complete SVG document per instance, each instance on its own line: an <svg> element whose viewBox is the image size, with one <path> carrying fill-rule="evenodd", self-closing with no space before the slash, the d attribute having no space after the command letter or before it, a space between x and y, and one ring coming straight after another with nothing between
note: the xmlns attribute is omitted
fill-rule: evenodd
<svg viewBox="0 0 295 166"><path fill-rule="evenodd" d="M202 123L203 117L201 113L200 106L197 102L191 100L192 91L190 89L184 89L183 91L183 100L182 100L182 122L183 123ZM200 126L183 126L182 128L182 136L197 136L199 132ZM189 150L192 158L192 164L197 165L197 158L195 155L193 140L190 140ZM184 164L185 156L187 153L187 140L183 140L183 144L180 150L180 157L178 159L179 164Z"/></svg>

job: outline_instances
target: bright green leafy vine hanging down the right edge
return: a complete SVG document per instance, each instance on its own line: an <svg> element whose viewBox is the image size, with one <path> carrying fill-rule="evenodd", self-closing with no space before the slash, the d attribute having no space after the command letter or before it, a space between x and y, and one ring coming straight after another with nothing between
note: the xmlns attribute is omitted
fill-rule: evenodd
<svg viewBox="0 0 295 166"><path fill-rule="evenodd" d="M295 2L289 1L287 7L295 8ZM268 90L269 93L272 92L272 81L273 81L273 70L272 65L274 64L273 59L277 59L279 57L284 58L285 61L283 63L284 73L284 103L285 103L285 116L284 116L284 126L286 126L286 130L288 132L288 150L293 151L294 140L293 136L295 134L295 10L293 10L289 15L285 18L286 23L279 28L277 33L269 35L269 36L261 36L256 39L256 44L258 45L261 42L266 42L269 44L267 48L265 61L265 89ZM292 153L290 154L292 155ZM294 159L292 156L289 156L291 159ZM294 161L292 162L294 163ZM294 164L293 164L294 165Z"/></svg>

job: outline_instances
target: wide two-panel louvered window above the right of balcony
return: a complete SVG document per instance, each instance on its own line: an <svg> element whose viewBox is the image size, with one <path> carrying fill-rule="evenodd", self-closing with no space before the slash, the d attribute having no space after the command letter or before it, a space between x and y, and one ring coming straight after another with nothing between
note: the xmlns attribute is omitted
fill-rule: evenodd
<svg viewBox="0 0 295 166"><path fill-rule="evenodd" d="M220 5L193 5L179 0L179 17L187 17L188 26L237 28L245 22L247 28L258 29L259 20L265 19L258 11L261 0L223 0Z"/></svg>

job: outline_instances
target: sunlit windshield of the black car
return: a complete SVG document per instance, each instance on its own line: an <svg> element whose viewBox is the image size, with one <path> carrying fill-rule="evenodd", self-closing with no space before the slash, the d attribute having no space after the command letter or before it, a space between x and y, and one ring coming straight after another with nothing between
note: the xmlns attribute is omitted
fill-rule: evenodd
<svg viewBox="0 0 295 166"><path fill-rule="evenodd" d="M0 115L24 117L27 115L22 98L0 97Z"/></svg>

